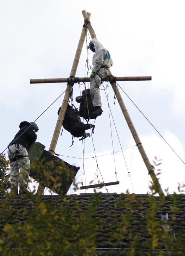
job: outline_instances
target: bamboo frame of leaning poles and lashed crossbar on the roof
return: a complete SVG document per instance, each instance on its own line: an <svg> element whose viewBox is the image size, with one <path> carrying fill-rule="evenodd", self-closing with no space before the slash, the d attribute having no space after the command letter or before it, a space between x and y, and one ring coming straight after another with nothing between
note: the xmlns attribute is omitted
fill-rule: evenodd
<svg viewBox="0 0 185 256"><path fill-rule="evenodd" d="M83 18L84 18L84 25L83 25L81 37L79 39L75 59L74 59L73 65L72 65L70 78L67 78L67 79L62 79L62 78L59 78L59 79L32 79L32 80L30 80L31 83L68 82L66 92L65 92L65 95L64 95L64 100L63 100L63 103L62 103L62 107L60 109L57 124L56 124L56 127L55 127L55 131L53 133L51 144L50 144L49 152L52 155L55 153L55 148L56 148L56 145L57 145L59 133L60 133L60 130L61 130L61 127L62 127L62 124L63 124L63 120L64 120L64 117L65 117L65 112L66 112L66 109L67 109L67 106L68 106L70 93L71 93L71 89L72 89L71 83L79 81L79 78L75 78L75 74L76 74L79 58L80 58L80 55L81 55L82 47L83 47L83 44L84 44L84 39L85 39L85 36L86 36L86 33L87 33L87 29L89 30L91 38L96 38L95 32L92 29L92 26L91 26L91 23L90 23L90 13L87 13L85 10L83 10L82 14L83 14ZM110 70L109 70L109 73L111 75ZM138 150L141 154L141 157L142 157L142 159L143 159L143 161L146 165L146 168L148 170L148 174L151 176L151 179L154 183L155 190L158 192L159 195L164 195L164 192L162 191L162 188L161 188L160 183L159 183L159 181L158 181L158 179L157 179L157 177L154 173L154 170L151 166L151 163L148 160L146 152L145 152L145 150L142 146L142 143L141 143L141 141L139 139L139 136L138 136L138 134L135 130L135 127L132 123L132 120L131 120L131 118L128 114L126 106L123 102L123 99L121 97L121 94L120 94L119 89L117 88L116 82L115 82L115 81L151 80L151 77L150 76L148 76L148 77L116 77L116 79L119 79L119 80L111 80L110 79L110 83L111 83L111 86L112 86L112 88L114 90L114 93L116 95L117 101L119 102L119 105L120 105L122 113L123 113L123 115L126 119L128 127L130 129L130 132L132 133L134 141L135 141L135 143L138 147ZM88 81L88 79L83 77L83 78L81 78L81 81ZM43 191L44 191L44 187L41 184L39 184L38 194L43 194Z"/></svg>

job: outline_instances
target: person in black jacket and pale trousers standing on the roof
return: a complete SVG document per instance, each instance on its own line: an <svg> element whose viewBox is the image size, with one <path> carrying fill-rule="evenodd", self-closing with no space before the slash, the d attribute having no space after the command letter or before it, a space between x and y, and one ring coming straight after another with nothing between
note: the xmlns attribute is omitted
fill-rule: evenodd
<svg viewBox="0 0 185 256"><path fill-rule="evenodd" d="M28 147L36 141L36 132L39 130L34 122L23 121L19 125L20 130L8 145L8 157L10 162L10 187L13 194L26 194L28 192L28 176L30 174L30 160Z"/></svg>

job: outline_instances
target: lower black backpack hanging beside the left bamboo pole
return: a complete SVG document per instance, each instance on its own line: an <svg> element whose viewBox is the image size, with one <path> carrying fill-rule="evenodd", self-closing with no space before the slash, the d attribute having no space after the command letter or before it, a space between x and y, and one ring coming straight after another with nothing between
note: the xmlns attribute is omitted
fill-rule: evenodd
<svg viewBox="0 0 185 256"><path fill-rule="evenodd" d="M61 107L59 107L58 115L60 112L60 108ZM65 130L70 132L73 137L82 137L81 139L79 139L79 141L87 137L90 137L90 133L85 133L85 130L92 128L92 133L94 133L95 129L95 125L82 123L77 108L73 108L70 105L68 105L65 113L63 127Z"/></svg>

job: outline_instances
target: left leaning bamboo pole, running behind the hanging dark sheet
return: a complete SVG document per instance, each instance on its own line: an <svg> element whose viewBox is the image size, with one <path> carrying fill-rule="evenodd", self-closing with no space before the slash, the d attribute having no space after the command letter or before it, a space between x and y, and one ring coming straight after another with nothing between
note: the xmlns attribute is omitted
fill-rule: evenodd
<svg viewBox="0 0 185 256"><path fill-rule="evenodd" d="M89 16L87 14L87 17L88 17L88 19L90 18L90 13L89 13ZM87 27L86 27L86 22L84 21L84 25L83 25L83 28L82 28L82 33L81 33L81 36L80 36L80 39L79 39L79 43L78 43L78 47L77 47L77 50L76 50L75 58L74 58L72 68L71 68L70 76L72 76L72 77L75 77L75 75L76 75L76 70L77 70L77 67L78 67L79 58L81 56L81 52L82 52L82 48L83 48L86 33L87 33ZM66 109L68 107L68 102L69 102L71 90L72 90L72 86L71 86L71 84L68 83L67 88L66 88L66 92L65 92L65 95L64 95L64 99L63 99L63 102L62 102L62 107L60 108L60 113L59 113L59 116L58 116L57 124L55 126L55 131L53 133L52 141L51 141L50 148L49 148L49 152L52 155L55 154L55 149L56 149L58 137L59 137L59 134L60 134L60 130L61 130L61 127L62 127L62 124L63 124L63 120L64 120L64 117L65 117L65 112L66 112ZM44 186L39 184L38 189L37 189L37 193L39 195L42 195L43 192L44 192Z"/></svg>

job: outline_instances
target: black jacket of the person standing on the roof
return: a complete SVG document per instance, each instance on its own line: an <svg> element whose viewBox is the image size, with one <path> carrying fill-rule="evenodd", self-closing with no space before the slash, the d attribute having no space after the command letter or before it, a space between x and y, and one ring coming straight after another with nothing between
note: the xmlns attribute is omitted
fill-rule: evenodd
<svg viewBox="0 0 185 256"><path fill-rule="evenodd" d="M14 139L11 141L11 143L9 143L8 146L10 146L11 144L17 143L17 144L23 145L28 150L28 147L30 146L30 144L32 144L33 142L36 141L37 135L36 135L36 133L33 131L33 129L31 127L29 127L28 129L27 129L27 127L28 126L23 126L18 131L18 133L15 135ZM25 131L25 132L23 133L23 131ZM23 134L21 135L21 133L23 133ZM19 137L19 135L21 135L21 136ZM13 141L16 138L18 138L18 139L13 143Z"/></svg>

